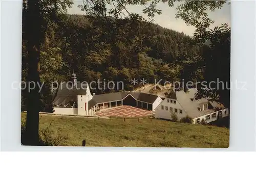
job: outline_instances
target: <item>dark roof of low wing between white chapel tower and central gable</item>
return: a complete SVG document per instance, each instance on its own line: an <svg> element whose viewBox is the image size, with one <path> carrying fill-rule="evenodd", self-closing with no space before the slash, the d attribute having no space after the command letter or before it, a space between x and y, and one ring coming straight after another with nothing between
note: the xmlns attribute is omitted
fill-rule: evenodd
<svg viewBox="0 0 256 179"><path fill-rule="evenodd" d="M106 103L115 100L122 100L127 94L129 94L129 92L98 94L93 96L93 100L95 100L96 103Z"/></svg>

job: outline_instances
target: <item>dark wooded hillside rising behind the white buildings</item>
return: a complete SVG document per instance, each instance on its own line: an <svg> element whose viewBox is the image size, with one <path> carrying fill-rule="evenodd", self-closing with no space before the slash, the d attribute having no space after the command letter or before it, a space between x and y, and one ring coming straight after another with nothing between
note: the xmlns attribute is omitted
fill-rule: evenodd
<svg viewBox="0 0 256 179"><path fill-rule="evenodd" d="M73 69L81 81L178 80L180 74L178 71L174 74L172 64L182 66L185 59L199 51L183 33L128 19L69 15L45 33L40 54L44 59L42 81L56 77L69 80ZM26 39L23 39L23 50L26 51ZM26 53L23 54L25 69ZM132 87L127 84L125 88L131 90Z"/></svg>

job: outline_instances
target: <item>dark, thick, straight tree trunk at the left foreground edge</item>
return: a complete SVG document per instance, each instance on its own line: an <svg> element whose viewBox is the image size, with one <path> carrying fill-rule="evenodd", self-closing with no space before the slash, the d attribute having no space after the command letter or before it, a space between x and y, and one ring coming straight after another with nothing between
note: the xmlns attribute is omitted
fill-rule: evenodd
<svg viewBox="0 0 256 179"><path fill-rule="evenodd" d="M39 42L40 42L40 14L37 0L28 0L28 76L27 82L36 84L28 93L27 121L25 145L38 145L39 135ZM28 86L27 86L28 88Z"/></svg>

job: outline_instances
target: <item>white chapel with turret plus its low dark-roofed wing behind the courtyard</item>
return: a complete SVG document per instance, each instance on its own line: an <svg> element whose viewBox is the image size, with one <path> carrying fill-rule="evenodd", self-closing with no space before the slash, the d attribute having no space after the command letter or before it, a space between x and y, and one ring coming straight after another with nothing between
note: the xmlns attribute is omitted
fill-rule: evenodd
<svg viewBox="0 0 256 179"><path fill-rule="evenodd" d="M141 92L92 95L87 85L77 83L75 73L72 78L72 83L61 83L55 92L53 99L55 114L93 116L99 110L123 105L155 111L162 102L162 98L157 95Z"/></svg>

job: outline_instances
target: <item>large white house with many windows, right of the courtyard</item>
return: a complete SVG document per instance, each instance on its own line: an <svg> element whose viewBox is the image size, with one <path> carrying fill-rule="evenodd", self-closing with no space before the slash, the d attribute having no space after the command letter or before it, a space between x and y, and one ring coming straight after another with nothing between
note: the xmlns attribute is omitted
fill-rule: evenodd
<svg viewBox="0 0 256 179"><path fill-rule="evenodd" d="M206 123L228 116L228 109L219 105L216 101L207 98L195 99L197 89L176 91L166 97L155 110L155 118L172 120L172 114L176 114L178 121L189 116L193 123L199 124L204 119Z"/></svg>

